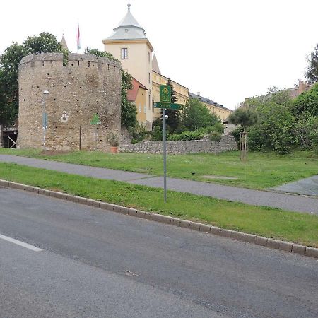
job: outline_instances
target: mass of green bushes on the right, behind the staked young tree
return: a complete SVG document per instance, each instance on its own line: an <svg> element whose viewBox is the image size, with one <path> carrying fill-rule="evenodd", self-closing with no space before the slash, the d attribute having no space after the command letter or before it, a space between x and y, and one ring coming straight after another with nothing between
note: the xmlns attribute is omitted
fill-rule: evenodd
<svg viewBox="0 0 318 318"><path fill-rule="evenodd" d="M245 105L257 112L259 121L249 127L249 146L261 151L288 153L291 148L312 148L318 144L318 83L291 100L286 90L249 98ZM242 127L233 131L238 139Z"/></svg>

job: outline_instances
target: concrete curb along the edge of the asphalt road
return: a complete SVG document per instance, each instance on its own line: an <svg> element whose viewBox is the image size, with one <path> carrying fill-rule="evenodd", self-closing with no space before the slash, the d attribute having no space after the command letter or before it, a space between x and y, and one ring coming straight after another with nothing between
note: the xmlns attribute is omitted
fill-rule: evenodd
<svg viewBox="0 0 318 318"><path fill-rule="evenodd" d="M45 190L37 187L30 187L25 184L19 184L16 182L6 181L2 179L0 179L0 187L8 187L13 189L25 190L28 192L35 192L37 194L43 194L45 196L52 196L57 199L63 199L78 204L85 204L87 206L93 206L95 208L102 208L103 210L114 211L129 216L135 216L137 218L145 218L147 220L153 220L160 223L178 226L180 228L189 228L191 230L196 230L198 232L228 237L234 240L252 243L254 245L270 247L272 249L279 249L281 251L292 252L295 254L300 254L307 257L314 257L315 259L318 259L318 248L294 244L292 242L273 240L268 237L261 237L243 232L237 232L234 230L226 230L223 228L217 228L216 226L212 225L206 225L202 223L192 222L189 220L182 220L180 218L172 218L171 216L163 216L161 214L140 211L136 210L135 208L126 208L124 206L117 206L116 204L95 201L92 199L86 199L81 196L73 196L71 194L66 194L62 192Z"/></svg>

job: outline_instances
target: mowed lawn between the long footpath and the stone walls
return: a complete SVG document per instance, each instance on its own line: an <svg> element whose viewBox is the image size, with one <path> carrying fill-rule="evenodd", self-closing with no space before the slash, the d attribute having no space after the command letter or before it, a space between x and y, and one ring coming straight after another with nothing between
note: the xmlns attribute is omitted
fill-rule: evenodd
<svg viewBox="0 0 318 318"><path fill-rule="evenodd" d="M73 151L54 154L41 150L0 149L0 154L63 161L79 165L163 175L163 156L148 153L102 153ZM250 152L247 162L237 151L218 155L201 153L168 155L167 175L182 179L228 184L251 189L266 189L318 174L318 154L298 151L288 155ZM230 177L231 179L227 179Z"/></svg>

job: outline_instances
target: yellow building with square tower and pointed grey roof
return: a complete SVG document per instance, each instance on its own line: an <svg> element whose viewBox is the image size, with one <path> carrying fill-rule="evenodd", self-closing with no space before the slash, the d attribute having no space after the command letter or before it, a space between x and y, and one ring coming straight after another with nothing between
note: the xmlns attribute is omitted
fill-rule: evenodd
<svg viewBox="0 0 318 318"><path fill-rule="evenodd" d="M153 55L153 46L146 37L143 27L132 16L130 4L128 12L119 23L114 32L107 39L102 40L105 51L110 52L122 63L122 69L127 71L144 87L139 86L137 95L139 100L133 101L137 108L137 119L147 130L152 129L152 123L160 117L160 109L153 109L153 102L160 101L159 86L166 85L169 78L160 72L157 58ZM189 89L175 81L171 81L177 97L177 103L185 105L190 98L197 98L204 102L206 107L217 114L220 119L225 119L232 112L208 98L189 93ZM135 83L136 84L136 83ZM139 84L136 84L137 86ZM136 91L135 91L136 93ZM135 96L137 98L137 95ZM146 104L144 99L146 98ZM145 104L145 105L144 105Z"/></svg>

